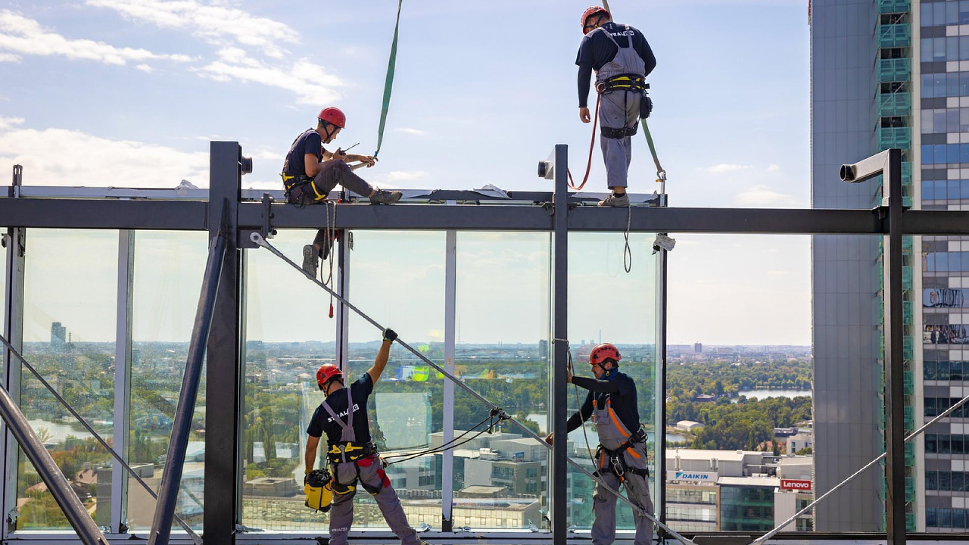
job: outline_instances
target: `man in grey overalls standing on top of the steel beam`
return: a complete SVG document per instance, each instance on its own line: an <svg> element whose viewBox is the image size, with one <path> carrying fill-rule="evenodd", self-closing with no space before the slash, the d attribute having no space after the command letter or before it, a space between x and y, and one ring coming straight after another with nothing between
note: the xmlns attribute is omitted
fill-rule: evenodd
<svg viewBox="0 0 969 545"><path fill-rule="evenodd" d="M600 95L599 129L607 185L612 194L600 207L628 207L629 163L633 139L640 118L646 118L652 103L645 96L646 76L656 68L656 57L642 33L628 24L612 22L609 11L592 6L582 14L582 38L578 47L578 118L589 115L589 78L596 73Z"/></svg>

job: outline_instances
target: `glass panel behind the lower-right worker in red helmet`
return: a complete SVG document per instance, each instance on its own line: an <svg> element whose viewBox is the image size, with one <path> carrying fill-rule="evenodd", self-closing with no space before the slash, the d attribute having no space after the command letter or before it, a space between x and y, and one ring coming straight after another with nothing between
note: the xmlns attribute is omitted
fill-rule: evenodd
<svg viewBox="0 0 969 545"><path fill-rule="evenodd" d="M622 356L620 372L633 379L637 389L639 421L645 427L645 463L650 469L650 491L655 489L656 433L656 316L657 261L650 234L632 234L632 269L623 268L623 237L619 233L572 233L569 235L569 341L577 376L592 376L589 353L600 342L616 345ZM587 393L569 387L570 412L578 410ZM621 398L620 398L621 399ZM612 401L616 403L617 401ZM591 420L591 419L590 419ZM632 432L632 430L630 430ZM599 438L590 421L569 433L569 456L592 469ZM591 452L590 452L591 449ZM569 467L569 524L580 529L592 524L591 479ZM662 482L662 481L661 481ZM609 494L609 493L604 493ZM633 529L633 513L617 503L616 526Z"/></svg>

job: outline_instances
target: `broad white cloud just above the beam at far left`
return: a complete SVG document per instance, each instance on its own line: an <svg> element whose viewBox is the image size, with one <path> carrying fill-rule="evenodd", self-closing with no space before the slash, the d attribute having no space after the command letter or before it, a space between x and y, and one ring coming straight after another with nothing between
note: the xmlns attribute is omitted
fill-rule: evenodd
<svg viewBox="0 0 969 545"><path fill-rule="evenodd" d="M117 141L67 129L19 129L0 117L0 162L23 166L27 185L175 187L181 179L208 185L208 152ZM56 155L51 142L60 146Z"/></svg>

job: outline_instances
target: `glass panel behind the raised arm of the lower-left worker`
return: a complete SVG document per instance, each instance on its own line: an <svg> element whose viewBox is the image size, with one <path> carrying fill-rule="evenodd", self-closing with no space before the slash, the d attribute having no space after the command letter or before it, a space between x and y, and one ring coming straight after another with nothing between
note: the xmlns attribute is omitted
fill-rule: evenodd
<svg viewBox="0 0 969 545"><path fill-rule="evenodd" d="M350 302L443 368L445 233L355 231L353 236ZM348 381L373 365L380 338L380 331L351 315ZM414 527L426 523L440 528L442 459L399 455L437 446L444 380L394 343L390 363L367 402L371 435L390 464L387 476ZM315 400L320 401L322 396ZM482 410L475 413L475 422L484 418ZM387 528L373 497L360 491L354 503L354 528Z"/></svg>

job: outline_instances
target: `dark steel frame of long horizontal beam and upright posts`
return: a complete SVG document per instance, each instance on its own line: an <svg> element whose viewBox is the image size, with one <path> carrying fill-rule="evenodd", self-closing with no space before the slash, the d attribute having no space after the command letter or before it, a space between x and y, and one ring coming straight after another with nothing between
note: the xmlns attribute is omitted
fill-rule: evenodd
<svg viewBox="0 0 969 545"><path fill-rule="evenodd" d="M883 157L884 155L884 157ZM567 163L565 145L555 147L555 163ZM887 477L890 482L891 501L888 504L888 538L892 545L905 543L904 481L901 459L903 450L901 415L901 236L965 235L969 229L969 211L959 210L907 210L900 199L900 155L897 150L883 152L857 167L853 181L860 181L868 173L885 174L889 188L887 202L871 210L849 209L766 209L766 208L655 208L634 207L629 225L630 231L647 233L711 233L711 234L806 234L806 235L874 235L889 236L886 253L887 287L885 301L887 327L885 328L887 384L889 392L886 403L889 409L887 443ZM210 159L210 189L192 192L172 191L171 199L138 199L137 190L125 193L118 200L95 200L84 197L85 191L44 191L23 187L16 176L9 197L0 198L0 223L9 228L6 240L14 245L8 251L8 286L14 291L7 301L5 333L16 344L19 325L11 310L16 307L17 294L22 289L17 273L22 278L22 256L17 255L19 238L23 228L72 228L72 229L118 229L118 230L207 230L210 239L217 236L225 218L225 229L230 234L222 272L219 276L218 295L207 344L207 391L206 400L211 409L207 411L206 458L205 458L205 509L203 539L206 544L232 544L236 541L236 513L241 491L237 483L239 474L238 445L240 440L241 376L237 362L241 354L240 313L242 290L242 252L250 247L248 234L262 231L267 225L279 229L315 228L325 221L325 210L319 207L294 208L280 203L261 203L246 192L252 200L244 200L239 189L241 148L234 142L213 142ZM877 159L876 159L877 158ZM563 171L564 169L560 169ZM877 172L875 172L877 171ZM860 173L860 174L859 174ZM850 172L851 174L851 172ZM561 176L559 176L561 177ZM851 177L851 176L849 176ZM558 181L558 180L557 180ZM49 196L41 196L48 194ZM73 194L70 198L53 198L54 194ZM153 190L166 195L164 191ZM190 194L187 194L190 193ZM278 197L278 192L273 193ZM413 193L413 192L408 192ZM24 195L33 195L24 198ZM207 201L195 200L204 199ZM554 242L554 291L553 324L554 337L565 338L567 279L564 255L568 232L621 232L627 229L625 210L593 208L585 206L588 199L567 196L559 192L511 192L511 199L496 199L477 192L424 191L413 193L414 197L393 207L370 207L344 205L336 219L338 229L403 229L403 230L487 230L487 231L542 231L555 233ZM112 195L118 196L118 195ZM164 198L164 197L163 197ZM446 203L446 204L439 204ZM661 261L665 270L665 259ZM11 285L11 284L15 285ZM18 287L20 286L20 287ZM666 296L661 292L665 309ZM898 308L895 308L895 307ZM896 323L897 322L897 323ZM661 328L662 329L662 328ZM661 331L665 342L665 330ZM565 343L554 346L552 400L565 392L564 366L567 347ZM660 353L665 364L665 352ZM14 366L7 364L8 372ZM659 378L659 377L658 377ZM8 387L18 384L16 377L8 374ZM896 384L897 383L897 384ZM557 405L558 403L556 403ZM214 410L213 410L214 409ZM559 414L561 413L561 414ZM897 413L897 414L896 414ZM565 408L555 406L554 431L564 434ZM560 430L561 428L561 430ZM898 430L896 430L898 428ZM659 431L657 432L659 433ZM659 434L657 434L659 437ZM662 444L662 443L661 443ZM9 439L6 448L15 448ZM559 445L555 445L558 447ZM555 448L552 468L564 465L565 444ZM6 457L5 461L10 457ZM556 473L562 473L557 475ZM550 479L553 513L563 512L565 498L564 472L552 469ZM11 498L9 482L16 478L16 467L6 467L5 498ZM899 489L899 484L901 489ZM660 487L662 488L662 487ZM900 494L893 491L901 490ZM662 494L662 493L661 493ZM9 506L9 503L7 504ZM900 513L900 516L899 516ZM115 515L118 516L118 515ZM900 521L900 522L899 522ZM115 521L112 521L112 523ZM446 521L450 522L450 521ZM556 543L572 540L566 533L564 517L554 517L552 535ZM112 527L114 525L112 524ZM461 541L453 534L453 541ZM269 537L269 536L266 536ZM477 538L468 535L477 541ZM494 542L511 539L515 542L547 540L547 537L518 532L495 532ZM846 538L844 534L838 537ZM802 539L802 535L797 536ZM851 539L850 537L847 537ZM5 540L12 540L9 533ZM56 541L55 538L47 539ZM863 538L862 538L863 539ZM240 541L245 541L242 538ZM261 542L273 541L261 538ZM310 541L310 540L307 540Z"/></svg>

